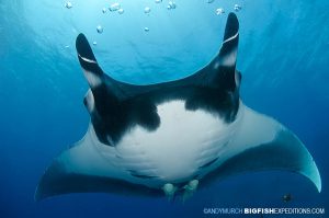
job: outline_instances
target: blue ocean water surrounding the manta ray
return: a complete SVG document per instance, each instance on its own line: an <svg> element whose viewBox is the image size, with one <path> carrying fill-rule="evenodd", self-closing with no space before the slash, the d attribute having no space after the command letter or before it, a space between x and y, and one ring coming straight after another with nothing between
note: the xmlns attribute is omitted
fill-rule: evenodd
<svg viewBox="0 0 329 218"><path fill-rule="evenodd" d="M213 217L204 208L329 208L327 0L177 0L174 10L167 9L167 0L121 0L123 14L102 13L115 1L71 2L67 9L65 1L0 0L0 217ZM185 203L111 194L34 202L45 168L89 123L82 104L88 84L75 50L79 33L97 42L95 56L112 77L139 84L168 81L215 56L236 3L242 7L237 12L241 97L304 141L321 173L321 193L300 175L260 172L219 181ZM218 8L225 13L217 15ZM282 200L286 193L293 196L288 203Z"/></svg>

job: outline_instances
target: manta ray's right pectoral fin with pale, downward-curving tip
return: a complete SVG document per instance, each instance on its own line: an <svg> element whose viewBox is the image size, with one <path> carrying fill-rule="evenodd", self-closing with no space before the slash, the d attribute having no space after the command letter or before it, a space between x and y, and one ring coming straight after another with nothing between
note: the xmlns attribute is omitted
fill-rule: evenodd
<svg viewBox="0 0 329 218"><path fill-rule="evenodd" d="M243 118L227 159L205 176L224 179L243 172L283 170L308 177L321 191L318 168L303 142L275 119L241 104Z"/></svg>

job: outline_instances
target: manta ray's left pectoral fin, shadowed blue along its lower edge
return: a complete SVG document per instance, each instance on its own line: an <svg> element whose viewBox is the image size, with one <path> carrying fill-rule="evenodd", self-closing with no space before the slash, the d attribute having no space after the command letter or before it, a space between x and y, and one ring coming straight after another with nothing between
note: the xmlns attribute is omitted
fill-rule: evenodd
<svg viewBox="0 0 329 218"><path fill-rule="evenodd" d="M82 140L53 160L39 180L35 200L70 193L112 193L139 197L163 195L161 190L124 180L132 176L131 172L105 159L95 148L94 137L93 127L90 126Z"/></svg>

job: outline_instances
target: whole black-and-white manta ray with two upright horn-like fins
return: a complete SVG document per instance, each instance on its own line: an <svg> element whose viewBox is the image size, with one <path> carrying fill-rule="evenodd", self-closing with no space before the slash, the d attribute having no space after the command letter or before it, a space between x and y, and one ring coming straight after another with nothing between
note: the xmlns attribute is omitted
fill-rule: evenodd
<svg viewBox="0 0 329 218"><path fill-rule="evenodd" d="M222 48L208 65L182 79L137 85L104 73L79 34L90 125L47 168L35 199L87 192L190 196L227 176L264 170L299 173L320 192L303 142L240 99L238 42L239 22L229 13Z"/></svg>

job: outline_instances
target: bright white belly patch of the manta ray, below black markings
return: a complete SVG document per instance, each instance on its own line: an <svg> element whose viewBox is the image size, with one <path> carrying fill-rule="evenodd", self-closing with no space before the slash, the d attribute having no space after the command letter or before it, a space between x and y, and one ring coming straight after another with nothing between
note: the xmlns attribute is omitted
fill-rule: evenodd
<svg viewBox="0 0 329 218"><path fill-rule="evenodd" d="M188 111L184 101L167 102L157 110L161 123L156 130L134 127L115 148L99 147L102 156L133 175L154 177L144 180L152 186L152 181L188 181L225 154L235 123L227 125L217 114L202 110Z"/></svg>

